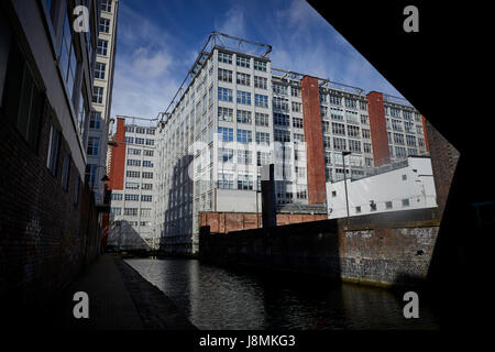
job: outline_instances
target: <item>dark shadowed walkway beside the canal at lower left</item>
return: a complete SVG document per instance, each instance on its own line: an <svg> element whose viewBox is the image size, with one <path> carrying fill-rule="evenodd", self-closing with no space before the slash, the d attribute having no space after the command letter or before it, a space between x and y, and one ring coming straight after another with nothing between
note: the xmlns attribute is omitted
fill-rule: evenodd
<svg viewBox="0 0 495 352"><path fill-rule="evenodd" d="M74 317L77 292L88 295L88 319ZM50 330L196 329L165 294L113 254L98 257L36 320L31 322Z"/></svg>

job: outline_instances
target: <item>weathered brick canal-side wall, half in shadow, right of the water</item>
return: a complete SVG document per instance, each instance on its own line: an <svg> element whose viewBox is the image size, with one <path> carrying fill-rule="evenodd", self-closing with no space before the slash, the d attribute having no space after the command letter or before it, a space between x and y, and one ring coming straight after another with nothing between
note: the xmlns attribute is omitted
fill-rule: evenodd
<svg viewBox="0 0 495 352"><path fill-rule="evenodd" d="M273 229L209 233L201 228L199 255L218 264L318 274L375 285L422 282L439 222L428 209Z"/></svg>

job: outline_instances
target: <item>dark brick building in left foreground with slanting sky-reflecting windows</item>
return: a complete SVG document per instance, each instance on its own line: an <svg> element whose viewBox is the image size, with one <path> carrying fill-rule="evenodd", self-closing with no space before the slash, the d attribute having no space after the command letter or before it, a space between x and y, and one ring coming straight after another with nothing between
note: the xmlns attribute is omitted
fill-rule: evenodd
<svg viewBox="0 0 495 352"><path fill-rule="evenodd" d="M87 31L76 31L77 6ZM98 9L0 2L0 301L10 306L55 295L98 254L85 179Z"/></svg>

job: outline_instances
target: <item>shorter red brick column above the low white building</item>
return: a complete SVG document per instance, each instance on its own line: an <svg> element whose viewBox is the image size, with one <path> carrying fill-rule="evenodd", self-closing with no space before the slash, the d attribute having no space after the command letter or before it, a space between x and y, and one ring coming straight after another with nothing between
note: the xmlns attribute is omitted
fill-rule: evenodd
<svg viewBox="0 0 495 352"><path fill-rule="evenodd" d="M366 97L374 164L375 166L381 166L391 162L383 94L371 91Z"/></svg>

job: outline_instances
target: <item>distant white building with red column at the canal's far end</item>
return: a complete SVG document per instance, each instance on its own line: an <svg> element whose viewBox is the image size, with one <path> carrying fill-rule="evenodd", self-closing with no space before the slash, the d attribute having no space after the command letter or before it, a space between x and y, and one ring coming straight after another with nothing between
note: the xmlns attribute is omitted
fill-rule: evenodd
<svg viewBox="0 0 495 352"><path fill-rule="evenodd" d="M117 119L116 145L110 153L108 244L122 250L155 249L156 128L124 122Z"/></svg>

